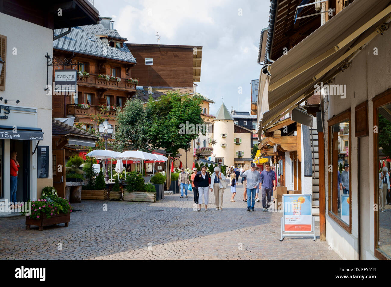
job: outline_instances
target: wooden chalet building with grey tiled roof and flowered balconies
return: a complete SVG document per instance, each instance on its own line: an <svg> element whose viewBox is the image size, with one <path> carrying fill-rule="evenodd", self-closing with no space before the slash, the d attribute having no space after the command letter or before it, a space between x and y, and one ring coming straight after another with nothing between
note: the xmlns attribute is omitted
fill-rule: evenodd
<svg viewBox="0 0 391 287"><path fill-rule="evenodd" d="M77 69L78 95L53 96L53 118L75 117L86 129L97 128L94 116L107 118L114 126L118 107L136 94L136 82L131 82L136 59L120 37L109 17L99 17L95 25L74 27L71 32L53 42L54 59L61 64L63 58L73 65L54 66L54 69ZM66 29L58 29L57 34ZM54 73L53 73L54 74ZM106 78L109 78L109 80ZM107 107L102 111L100 105Z"/></svg>

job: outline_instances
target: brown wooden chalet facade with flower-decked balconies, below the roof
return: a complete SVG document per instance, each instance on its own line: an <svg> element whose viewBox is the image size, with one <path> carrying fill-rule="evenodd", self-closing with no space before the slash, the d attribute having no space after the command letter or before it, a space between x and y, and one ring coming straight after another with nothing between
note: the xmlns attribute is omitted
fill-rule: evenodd
<svg viewBox="0 0 391 287"><path fill-rule="evenodd" d="M70 53L64 53L63 51L53 50L54 58L68 58L72 56ZM77 103L85 103L90 106L89 109L81 109L77 107L77 103L72 96L57 96L53 95L52 104L52 117L53 118L65 118L68 116L74 116L75 122L83 122L92 124L92 127L96 128L96 124L93 122L92 115L101 114L101 116L107 117L111 125L115 125L116 111L110 110L106 113L100 111L98 104L110 105L110 106L124 106L127 99L131 98L136 93L136 84L128 82L127 79L132 76L133 64L122 61L106 61L100 57L85 56L74 54L73 60L84 64L84 71L90 74L90 77L77 78L78 85L78 98ZM55 70L62 69L79 69L78 66L54 66ZM121 78L121 82L115 80L106 80L99 78L98 74L111 75L112 69L116 70L117 77ZM53 71L53 77L55 75ZM54 80L54 78L53 78ZM89 101L89 98L91 101ZM65 102L65 104L64 104Z"/></svg>

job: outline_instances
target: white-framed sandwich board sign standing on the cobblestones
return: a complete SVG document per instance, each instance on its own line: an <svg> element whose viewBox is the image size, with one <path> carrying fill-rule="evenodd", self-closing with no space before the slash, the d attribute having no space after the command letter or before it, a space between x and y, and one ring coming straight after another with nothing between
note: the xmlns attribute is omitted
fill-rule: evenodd
<svg viewBox="0 0 391 287"><path fill-rule="evenodd" d="M313 236L316 241L315 217L312 216L312 194L283 194L282 202L280 241L288 236ZM295 234L296 232L298 234Z"/></svg>

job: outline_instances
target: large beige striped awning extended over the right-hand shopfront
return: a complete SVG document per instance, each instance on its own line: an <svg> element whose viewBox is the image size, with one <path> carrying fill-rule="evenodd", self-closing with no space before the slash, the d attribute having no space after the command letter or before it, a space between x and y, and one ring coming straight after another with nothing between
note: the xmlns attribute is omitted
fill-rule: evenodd
<svg viewBox="0 0 391 287"><path fill-rule="evenodd" d="M388 25L380 25L389 21L389 3L389 0L355 0L273 62L267 89L269 111L262 119L259 116L262 109L258 107L260 129L269 127L310 97L314 85L335 77L348 57L384 32ZM259 91L258 106L263 98L262 89Z"/></svg>

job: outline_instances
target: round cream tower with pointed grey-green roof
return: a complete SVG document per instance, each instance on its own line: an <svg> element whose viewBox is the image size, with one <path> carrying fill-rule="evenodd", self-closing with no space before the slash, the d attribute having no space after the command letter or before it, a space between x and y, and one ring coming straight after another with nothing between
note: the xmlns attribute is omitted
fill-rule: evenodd
<svg viewBox="0 0 391 287"><path fill-rule="evenodd" d="M216 141L213 153L216 157L224 157L224 165L232 166L235 163L233 149L233 117L222 102L216 113L213 124L213 138Z"/></svg>

